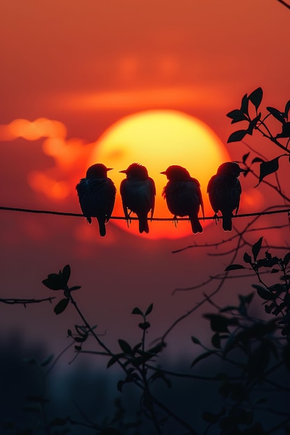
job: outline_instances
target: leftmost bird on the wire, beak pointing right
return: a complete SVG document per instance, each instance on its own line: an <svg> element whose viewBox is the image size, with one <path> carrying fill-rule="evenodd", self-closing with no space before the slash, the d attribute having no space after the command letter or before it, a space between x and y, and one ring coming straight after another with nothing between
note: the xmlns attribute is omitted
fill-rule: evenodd
<svg viewBox="0 0 290 435"><path fill-rule="evenodd" d="M116 188L107 177L107 172L112 169L102 163L95 163L88 168L86 178L76 185L81 211L89 224L92 223L92 217L97 217L102 237L106 236L105 224L110 219L115 204Z"/></svg>

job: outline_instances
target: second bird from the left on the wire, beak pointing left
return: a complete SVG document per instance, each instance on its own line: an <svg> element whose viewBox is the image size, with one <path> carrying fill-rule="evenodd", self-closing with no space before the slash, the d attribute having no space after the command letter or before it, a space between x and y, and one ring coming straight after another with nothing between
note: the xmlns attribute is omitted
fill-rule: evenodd
<svg viewBox="0 0 290 435"><path fill-rule="evenodd" d="M147 216L151 210L152 220L154 214L156 195L154 180L148 176L147 168L139 163L132 163L126 170L120 172L127 175L120 184L120 194L128 227L132 211L138 216L139 232L149 233Z"/></svg>

